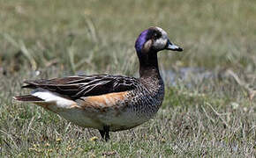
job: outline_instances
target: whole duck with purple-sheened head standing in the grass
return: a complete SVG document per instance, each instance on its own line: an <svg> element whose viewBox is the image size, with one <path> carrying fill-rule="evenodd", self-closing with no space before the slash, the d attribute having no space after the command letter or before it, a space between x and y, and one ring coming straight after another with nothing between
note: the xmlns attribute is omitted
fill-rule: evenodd
<svg viewBox="0 0 256 158"><path fill-rule="evenodd" d="M153 118L162 105L164 83L157 54L162 50L181 52L167 32L151 26L135 42L139 78L125 75L71 75L63 78L25 81L28 95L13 97L55 112L73 124L109 132L128 130Z"/></svg>

